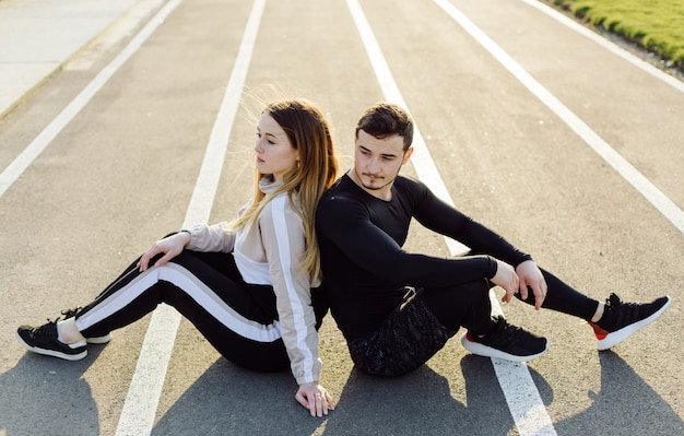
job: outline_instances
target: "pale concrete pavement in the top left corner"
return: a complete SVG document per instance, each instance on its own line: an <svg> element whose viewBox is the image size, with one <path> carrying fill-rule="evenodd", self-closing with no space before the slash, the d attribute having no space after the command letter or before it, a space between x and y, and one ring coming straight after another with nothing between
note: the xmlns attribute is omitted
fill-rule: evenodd
<svg viewBox="0 0 684 436"><path fill-rule="evenodd" d="M161 1L0 1L0 118L104 34L131 31L154 3Z"/></svg>

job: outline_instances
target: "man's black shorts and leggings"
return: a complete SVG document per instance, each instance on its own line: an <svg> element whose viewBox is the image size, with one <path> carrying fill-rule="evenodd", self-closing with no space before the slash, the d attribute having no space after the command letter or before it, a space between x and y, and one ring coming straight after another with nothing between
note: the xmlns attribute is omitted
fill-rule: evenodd
<svg viewBox="0 0 684 436"><path fill-rule="evenodd" d="M549 290L542 307L586 320L593 317L598 302L542 270ZM444 347L459 328L474 334L490 333L492 320L490 290L480 279L457 286L410 288L399 307L378 323L375 331L347 341L352 361L363 372L400 376L427 362ZM516 294L518 295L518 294ZM519 296L518 296L519 297ZM534 305L529 290L526 303Z"/></svg>

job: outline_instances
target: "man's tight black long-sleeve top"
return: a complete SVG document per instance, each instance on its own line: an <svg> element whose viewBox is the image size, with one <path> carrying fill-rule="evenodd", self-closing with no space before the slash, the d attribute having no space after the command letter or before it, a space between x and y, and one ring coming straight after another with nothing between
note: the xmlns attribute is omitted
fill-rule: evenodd
<svg viewBox="0 0 684 436"><path fill-rule="evenodd" d="M475 256L443 259L402 249L411 219L469 246ZM380 200L347 175L321 199L316 214L330 308L347 340L365 337L401 304L404 286L447 287L496 274L531 257L439 200L424 184L399 176Z"/></svg>

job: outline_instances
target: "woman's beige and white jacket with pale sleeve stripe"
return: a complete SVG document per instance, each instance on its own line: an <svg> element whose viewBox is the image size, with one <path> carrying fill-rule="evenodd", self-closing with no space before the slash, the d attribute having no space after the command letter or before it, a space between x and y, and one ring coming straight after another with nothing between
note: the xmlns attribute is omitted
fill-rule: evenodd
<svg viewBox="0 0 684 436"><path fill-rule="evenodd" d="M260 189L269 193L280 186L282 182L264 177ZM295 207L297 200L293 196ZM299 385L318 381L322 365L310 288L319 286L320 281L311 283L307 271L299 268L306 248L304 225L287 193L271 199L252 225L236 232L228 232L226 222L211 226L198 224L184 231L190 233L186 248L233 252L245 282L273 286L292 374Z"/></svg>

